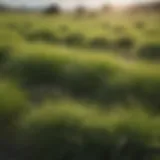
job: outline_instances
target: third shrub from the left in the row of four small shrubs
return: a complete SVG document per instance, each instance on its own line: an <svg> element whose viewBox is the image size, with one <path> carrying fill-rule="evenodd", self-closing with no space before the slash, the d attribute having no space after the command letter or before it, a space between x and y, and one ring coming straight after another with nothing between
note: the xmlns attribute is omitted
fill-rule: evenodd
<svg viewBox="0 0 160 160"><path fill-rule="evenodd" d="M89 45L93 48L108 48L110 46L110 42L105 37L95 37L90 42Z"/></svg>

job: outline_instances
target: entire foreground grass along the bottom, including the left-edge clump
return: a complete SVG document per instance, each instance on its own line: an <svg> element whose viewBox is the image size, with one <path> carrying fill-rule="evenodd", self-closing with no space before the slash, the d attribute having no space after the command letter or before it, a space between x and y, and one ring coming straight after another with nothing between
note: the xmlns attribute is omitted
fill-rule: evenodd
<svg viewBox="0 0 160 160"><path fill-rule="evenodd" d="M0 85L1 91L3 88L4 85ZM8 96L8 102L4 103L4 96ZM102 110L96 105L61 97L31 107L26 100L22 102L23 96L24 93L10 83L5 83L5 92L0 94L0 114L3 115L0 122L9 126L4 130L1 125L6 133L5 139L0 135L5 146L2 158L113 160L127 156L133 160L154 159L153 149L160 145L159 116L142 106Z"/></svg>

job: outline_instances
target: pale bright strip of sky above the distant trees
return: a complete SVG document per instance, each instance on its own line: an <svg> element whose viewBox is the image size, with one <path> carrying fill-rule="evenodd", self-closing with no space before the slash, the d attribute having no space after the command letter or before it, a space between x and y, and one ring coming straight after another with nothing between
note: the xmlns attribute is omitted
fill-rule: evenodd
<svg viewBox="0 0 160 160"><path fill-rule="evenodd" d="M57 3L63 8L74 8L76 5L85 5L91 8L99 7L103 4L128 5L133 3L143 3L149 0L0 0L1 3L13 6L43 7L48 4Z"/></svg>

